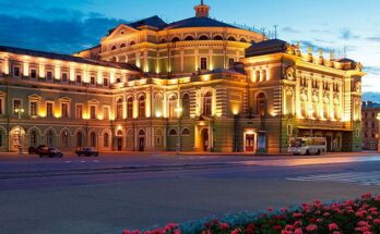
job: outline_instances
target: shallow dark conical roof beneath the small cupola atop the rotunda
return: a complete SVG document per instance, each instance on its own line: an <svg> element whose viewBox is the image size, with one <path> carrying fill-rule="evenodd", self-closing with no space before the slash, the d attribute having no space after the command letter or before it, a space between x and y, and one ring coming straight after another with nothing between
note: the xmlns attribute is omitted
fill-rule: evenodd
<svg viewBox="0 0 380 234"><path fill-rule="evenodd" d="M211 17L189 17L182 21L174 22L166 25L165 28L183 28L183 27L231 27L238 28L230 24L223 23L221 21L216 21Z"/></svg>

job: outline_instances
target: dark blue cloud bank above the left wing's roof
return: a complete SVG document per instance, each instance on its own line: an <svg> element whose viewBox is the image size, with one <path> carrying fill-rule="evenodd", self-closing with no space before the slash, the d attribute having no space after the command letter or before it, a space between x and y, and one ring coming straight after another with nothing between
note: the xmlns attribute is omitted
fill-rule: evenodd
<svg viewBox="0 0 380 234"><path fill-rule="evenodd" d="M51 14L62 12L60 9L49 11ZM68 13L62 12L66 15ZM0 45L72 53L99 44L108 29L126 23L95 13L93 17L84 17L80 12L73 14L76 16L54 20L0 14Z"/></svg>

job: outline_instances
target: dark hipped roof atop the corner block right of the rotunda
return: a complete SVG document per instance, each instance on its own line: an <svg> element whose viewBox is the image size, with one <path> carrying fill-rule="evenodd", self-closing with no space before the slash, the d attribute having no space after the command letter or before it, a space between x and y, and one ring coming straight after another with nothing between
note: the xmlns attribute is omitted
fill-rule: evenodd
<svg viewBox="0 0 380 234"><path fill-rule="evenodd" d="M246 58L270 54L270 53L277 53L277 52L285 52L286 45L287 42L281 39L270 39L270 40L264 40L258 44L252 44L252 46L246 50Z"/></svg>

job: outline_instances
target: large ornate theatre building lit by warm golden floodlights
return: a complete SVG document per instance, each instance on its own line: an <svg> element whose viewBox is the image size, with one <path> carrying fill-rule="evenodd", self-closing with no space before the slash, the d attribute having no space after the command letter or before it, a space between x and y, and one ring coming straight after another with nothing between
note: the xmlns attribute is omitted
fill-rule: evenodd
<svg viewBox="0 0 380 234"><path fill-rule="evenodd" d="M74 56L0 47L0 150L21 137L24 148L265 153L305 135L360 149L359 63L194 9L171 24L121 24Z"/></svg>

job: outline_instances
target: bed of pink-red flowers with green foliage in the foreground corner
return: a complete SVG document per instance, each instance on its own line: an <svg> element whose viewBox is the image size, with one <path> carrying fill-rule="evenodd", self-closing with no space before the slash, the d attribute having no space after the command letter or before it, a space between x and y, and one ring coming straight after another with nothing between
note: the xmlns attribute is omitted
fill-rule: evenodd
<svg viewBox="0 0 380 234"><path fill-rule="evenodd" d="M201 224L200 224L201 222ZM323 205L316 200L292 211L245 213L209 222L170 223L151 231L122 234L380 234L380 196Z"/></svg>

